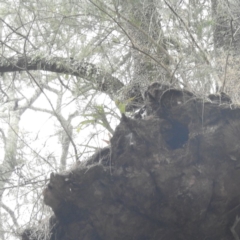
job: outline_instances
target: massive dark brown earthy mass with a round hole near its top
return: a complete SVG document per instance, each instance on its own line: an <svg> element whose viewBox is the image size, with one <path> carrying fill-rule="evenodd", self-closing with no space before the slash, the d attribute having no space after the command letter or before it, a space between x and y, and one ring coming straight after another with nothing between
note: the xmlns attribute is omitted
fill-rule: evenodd
<svg viewBox="0 0 240 240"><path fill-rule="evenodd" d="M144 118L123 116L109 148L51 175L49 239L239 239L240 108L210 98L151 85Z"/></svg>

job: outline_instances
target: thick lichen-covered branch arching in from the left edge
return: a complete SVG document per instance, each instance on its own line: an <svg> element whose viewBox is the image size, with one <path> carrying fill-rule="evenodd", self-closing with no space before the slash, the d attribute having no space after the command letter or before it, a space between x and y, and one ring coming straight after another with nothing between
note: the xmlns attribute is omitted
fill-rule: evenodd
<svg viewBox="0 0 240 240"><path fill-rule="evenodd" d="M79 62L74 59L40 56L0 57L0 72L43 70L69 74L90 81L94 88L108 94L114 94L124 85L111 74L102 71L92 63Z"/></svg>

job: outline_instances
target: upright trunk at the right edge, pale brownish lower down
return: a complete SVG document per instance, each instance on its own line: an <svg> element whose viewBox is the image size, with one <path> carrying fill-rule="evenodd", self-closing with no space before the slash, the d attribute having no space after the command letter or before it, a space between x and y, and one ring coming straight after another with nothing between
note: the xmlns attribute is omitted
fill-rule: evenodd
<svg viewBox="0 0 240 240"><path fill-rule="evenodd" d="M234 102L239 99L240 32L239 1L212 0L214 20L213 43L216 67L221 79L221 91L227 92Z"/></svg>

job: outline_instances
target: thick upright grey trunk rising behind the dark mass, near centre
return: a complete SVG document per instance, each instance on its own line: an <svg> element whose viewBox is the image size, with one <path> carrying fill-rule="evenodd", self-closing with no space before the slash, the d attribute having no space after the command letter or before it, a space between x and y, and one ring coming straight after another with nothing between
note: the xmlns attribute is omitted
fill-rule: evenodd
<svg viewBox="0 0 240 240"><path fill-rule="evenodd" d="M161 15L157 11L159 2L150 0L122 2L122 14L128 21L124 30L132 45L132 79L127 85L124 98L133 98L129 107L139 108L147 86L153 81L170 82L171 57L164 43ZM169 68L170 69L170 68ZM168 69L168 70L169 70Z"/></svg>

